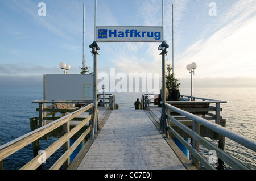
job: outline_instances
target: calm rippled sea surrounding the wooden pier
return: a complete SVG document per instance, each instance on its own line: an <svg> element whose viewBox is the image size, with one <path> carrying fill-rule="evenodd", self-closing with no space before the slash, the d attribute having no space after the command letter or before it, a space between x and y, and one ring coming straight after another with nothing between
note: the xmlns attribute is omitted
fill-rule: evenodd
<svg viewBox="0 0 256 181"><path fill-rule="evenodd" d="M190 95L190 89L181 89L182 95ZM141 93L116 93L119 108L134 108L137 98L141 99ZM221 88L221 89L194 89L193 96L201 98L226 100L228 103L221 104L223 111L221 116L226 119L226 128L243 136L256 137L256 88ZM43 98L43 90L40 88L0 89L0 138L1 144L5 144L23 134L30 132L30 117L38 116L36 108L38 104L32 104L34 100ZM40 149L45 149L56 138L40 140ZM202 149L204 151L204 149ZM226 151L234 158L245 163L250 169L256 169L256 154L250 149L226 139ZM48 169L57 160L57 155L62 150L47 159L42 169ZM205 152L207 154L207 151ZM32 145L28 145L17 153L3 160L4 169L19 169L33 158ZM228 165L225 169L230 169Z"/></svg>

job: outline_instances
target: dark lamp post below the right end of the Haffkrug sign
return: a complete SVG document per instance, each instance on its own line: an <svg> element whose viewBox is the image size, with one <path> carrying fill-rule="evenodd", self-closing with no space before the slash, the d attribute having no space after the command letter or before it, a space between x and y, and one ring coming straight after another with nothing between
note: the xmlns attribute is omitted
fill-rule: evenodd
<svg viewBox="0 0 256 181"><path fill-rule="evenodd" d="M167 48L169 45L166 41L163 41L159 47L158 50L162 52L160 55L162 55L162 116L160 120L160 129L163 128L164 132L166 133L166 137L168 138L168 128L167 128L167 120L166 120L166 54L167 54Z"/></svg>

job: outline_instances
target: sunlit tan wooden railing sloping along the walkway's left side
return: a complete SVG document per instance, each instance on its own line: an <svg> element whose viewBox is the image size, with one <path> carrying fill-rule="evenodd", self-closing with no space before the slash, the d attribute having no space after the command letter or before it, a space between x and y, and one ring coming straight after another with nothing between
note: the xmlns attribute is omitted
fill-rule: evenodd
<svg viewBox="0 0 256 181"><path fill-rule="evenodd" d="M35 144L39 138L45 136L47 133L63 127L63 136L61 136L56 142L50 145L47 149L43 150L42 153L38 154L34 159L24 165L21 169L31 170L38 168L47 158L49 158L55 151L57 151L61 146L63 146L63 155L52 165L50 169L59 169L62 165L65 169L69 165L69 157L72 154L73 150L84 140L84 138L92 130L92 124L89 123L89 127L81 134L79 138L72 144L69 145L70 138L80 131L82 127L85 126L90 120L92 120L92 114L89 113L89 116L84 118L79 124L70 130L70 121L79 116L81 113L92 110L93 103L88 106L82 107L79 110L71 112L59 119L52 121L49 124L43 125L42 127L35 129L34 131L25 134L19 138L16 138L13 141L7 142L6 144L0 146L0 161L9 157L9 155L15 153L16 151L24 148L32 142ZM92 113L92 111L90 111Z"/></svg>

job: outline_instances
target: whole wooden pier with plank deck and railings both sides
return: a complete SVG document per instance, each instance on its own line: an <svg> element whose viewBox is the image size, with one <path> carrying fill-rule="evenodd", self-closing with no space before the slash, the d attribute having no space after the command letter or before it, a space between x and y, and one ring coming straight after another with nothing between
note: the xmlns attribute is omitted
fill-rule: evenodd
<svg viewBox="0 0 256 181"><path fill-rule="evenodd" d="M152 105L148 95L144 94L141 110L118 109L114 95L109 95L109 102L105 102L105 107L99 105L97 111L93 111L94 105L90 102L32 102L38 103L39 108L38 117L30 119L31 132L0 145L0 163L32 143L31 153L34 152L34 158L22 166L21 170L37 169L61 147L63 154L50 170L192 170L199 169L199 163L205 169L216 169L212 160L200 154L200 144L205 149L215 151L217 156L209 157L218 158L219 163L224 162L234 169L248 169L238 159L226 153L225 138L253 151L256 151L256 141L225 128L225 119L220 116L220 104L226 102L186 97L189 100L166 102L166 116L162 116L162 108ZM78 103L82 106L56 108L59 103ZM58 140L45 150L40 150L39 140L47 137L57 137ZM218 140L218 146L204 137ZM174 138L189 150L192 160L177 147ZM184 138L192 138L192 145ZM71 139L76 139L72 145ZM81 150L71 162L71 154L77 147ZM3 161L3 166L0 164L0 169L4 169L4 163Z"/></svg>

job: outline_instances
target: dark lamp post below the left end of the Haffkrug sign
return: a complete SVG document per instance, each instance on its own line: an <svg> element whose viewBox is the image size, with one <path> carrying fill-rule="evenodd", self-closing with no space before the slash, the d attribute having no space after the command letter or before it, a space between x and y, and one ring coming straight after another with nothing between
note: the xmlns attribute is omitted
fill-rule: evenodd
<svg viewBox="0 0 256 181"><path fill-rule="evenodd" d="M92 54L93 54L93 121L92 121L92 132L90 134L90 137L94 138L94 132L97 130L98 122L96 123L97 116L97 50L100 50L100 47L98 47L96 41L93 41L92 44L89 45L90 48L92 48Z"/></svg>

